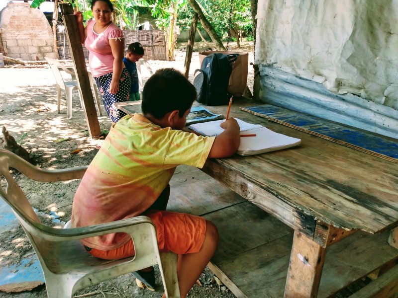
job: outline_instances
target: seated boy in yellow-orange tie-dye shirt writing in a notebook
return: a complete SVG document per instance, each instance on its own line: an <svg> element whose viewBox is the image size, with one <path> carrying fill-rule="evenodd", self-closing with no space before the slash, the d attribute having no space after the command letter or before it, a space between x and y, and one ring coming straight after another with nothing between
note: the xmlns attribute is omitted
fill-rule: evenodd
<svg viewBox="0 0 398 298"><path fill-rule="evenodd" d="M230 156L240 145L240 128L233 118L220 125L224 132L217 137L183 131L195 98L195 87L181 72L161 69L153 74L142 92L142 114L127 115L112 125L80 183L72 209L73 227L150 217L160 251L179 255L181 297L186 297L213 256L218 231L204 218L165 211L169 181L177 165L201 168L207 158ZM134 255L133 241L125 233L82 242L102 259ZM138 276L151 269L137 272Z"/></svg>

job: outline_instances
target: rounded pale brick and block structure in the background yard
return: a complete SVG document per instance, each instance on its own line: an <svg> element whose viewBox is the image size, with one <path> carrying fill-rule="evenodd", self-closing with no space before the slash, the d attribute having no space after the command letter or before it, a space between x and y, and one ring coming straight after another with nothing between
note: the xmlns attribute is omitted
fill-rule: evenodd
<svg viewBox="0 0 398 298"><path fill-rule="evenodd" d="M29 3L8 2L0 12L0 33L8 57L25 61L55 58L53 32L44 13Z"/></svg>

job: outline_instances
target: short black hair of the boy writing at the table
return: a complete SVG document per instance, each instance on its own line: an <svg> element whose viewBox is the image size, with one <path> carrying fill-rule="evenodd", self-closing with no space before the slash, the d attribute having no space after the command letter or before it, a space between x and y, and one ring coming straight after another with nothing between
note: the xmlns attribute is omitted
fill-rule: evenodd
<svg viewBox="0 0 398 298"><path fill-rule="evenodd" d="M183 117L195 99L196 89L184 74L173 68L160 69L144 85L141 110L156 119L174 110Z"/></svg>

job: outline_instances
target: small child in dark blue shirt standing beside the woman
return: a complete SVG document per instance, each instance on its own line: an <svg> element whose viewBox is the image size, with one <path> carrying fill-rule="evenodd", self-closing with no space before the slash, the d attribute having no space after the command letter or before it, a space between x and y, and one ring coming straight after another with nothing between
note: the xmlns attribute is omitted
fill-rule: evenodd
<svg viewBox="0 0 398 298"><path fill-rule="evenodd" d="M144 57L144 48L139 42L133 42L127 48L127 54L123 59L124 66L131 77L130 87L130 98L129 100L140 100L139 84L138 84L138 73L137 65L135 64L138 60Z"/></svg>

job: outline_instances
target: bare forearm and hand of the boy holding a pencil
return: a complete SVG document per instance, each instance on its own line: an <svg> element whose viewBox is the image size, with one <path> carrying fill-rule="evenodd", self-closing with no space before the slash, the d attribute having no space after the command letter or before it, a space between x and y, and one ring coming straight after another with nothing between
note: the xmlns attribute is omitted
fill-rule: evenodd
<svg viewBox="0 0 398 298"><path fill-rule="evenodd" d="M240 145L240 128L233 118L228 118L220 125L224 130L215 137L213 146L207 158L222 158L231 156L236 152Z"/></svg>

